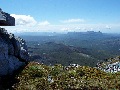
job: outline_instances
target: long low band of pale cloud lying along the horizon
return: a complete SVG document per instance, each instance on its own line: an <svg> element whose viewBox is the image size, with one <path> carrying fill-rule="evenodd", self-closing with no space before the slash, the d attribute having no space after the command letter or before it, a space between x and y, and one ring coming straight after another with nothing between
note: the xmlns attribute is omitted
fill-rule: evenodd
<svg viewBox="0 0 120 90"><path fill-rule="evenodd" d="M111 29L107 29L106 26L112 27ZM11 33L14 32L86 32L86 31L101 31L101 32L119 32L120 33L120 25L118 24L64 24L64 25L48 25L48 26L40 26L36 24L35 26L14 26L14 27L4 27Z"/></svg>

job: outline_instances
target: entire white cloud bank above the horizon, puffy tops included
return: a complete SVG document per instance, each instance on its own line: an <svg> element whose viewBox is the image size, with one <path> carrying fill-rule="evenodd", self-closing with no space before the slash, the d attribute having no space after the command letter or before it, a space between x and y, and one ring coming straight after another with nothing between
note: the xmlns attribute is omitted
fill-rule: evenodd
<svg viewBox="0 0 120 90"><path fill-rule="evenodd" d="M102 32L120 32L120 24L86 24L83 19L68 19L61 21L66 24L51 24L48 20L36 21L30 15L16 15L16 26L5 27L9 32L85 32L85 31L102 31ZM112 27L112 28L111 28Z"/></svg>

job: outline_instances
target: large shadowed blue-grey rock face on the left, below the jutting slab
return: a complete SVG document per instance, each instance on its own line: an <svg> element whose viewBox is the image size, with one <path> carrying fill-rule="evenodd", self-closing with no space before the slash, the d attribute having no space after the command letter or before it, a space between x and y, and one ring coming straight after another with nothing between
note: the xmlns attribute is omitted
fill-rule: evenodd
<svg viewBox="0 0 120 90"><path fill-rule="evenodd" d="M26 42L0 28L0 76L12 74L28 61Z"/></svg>

